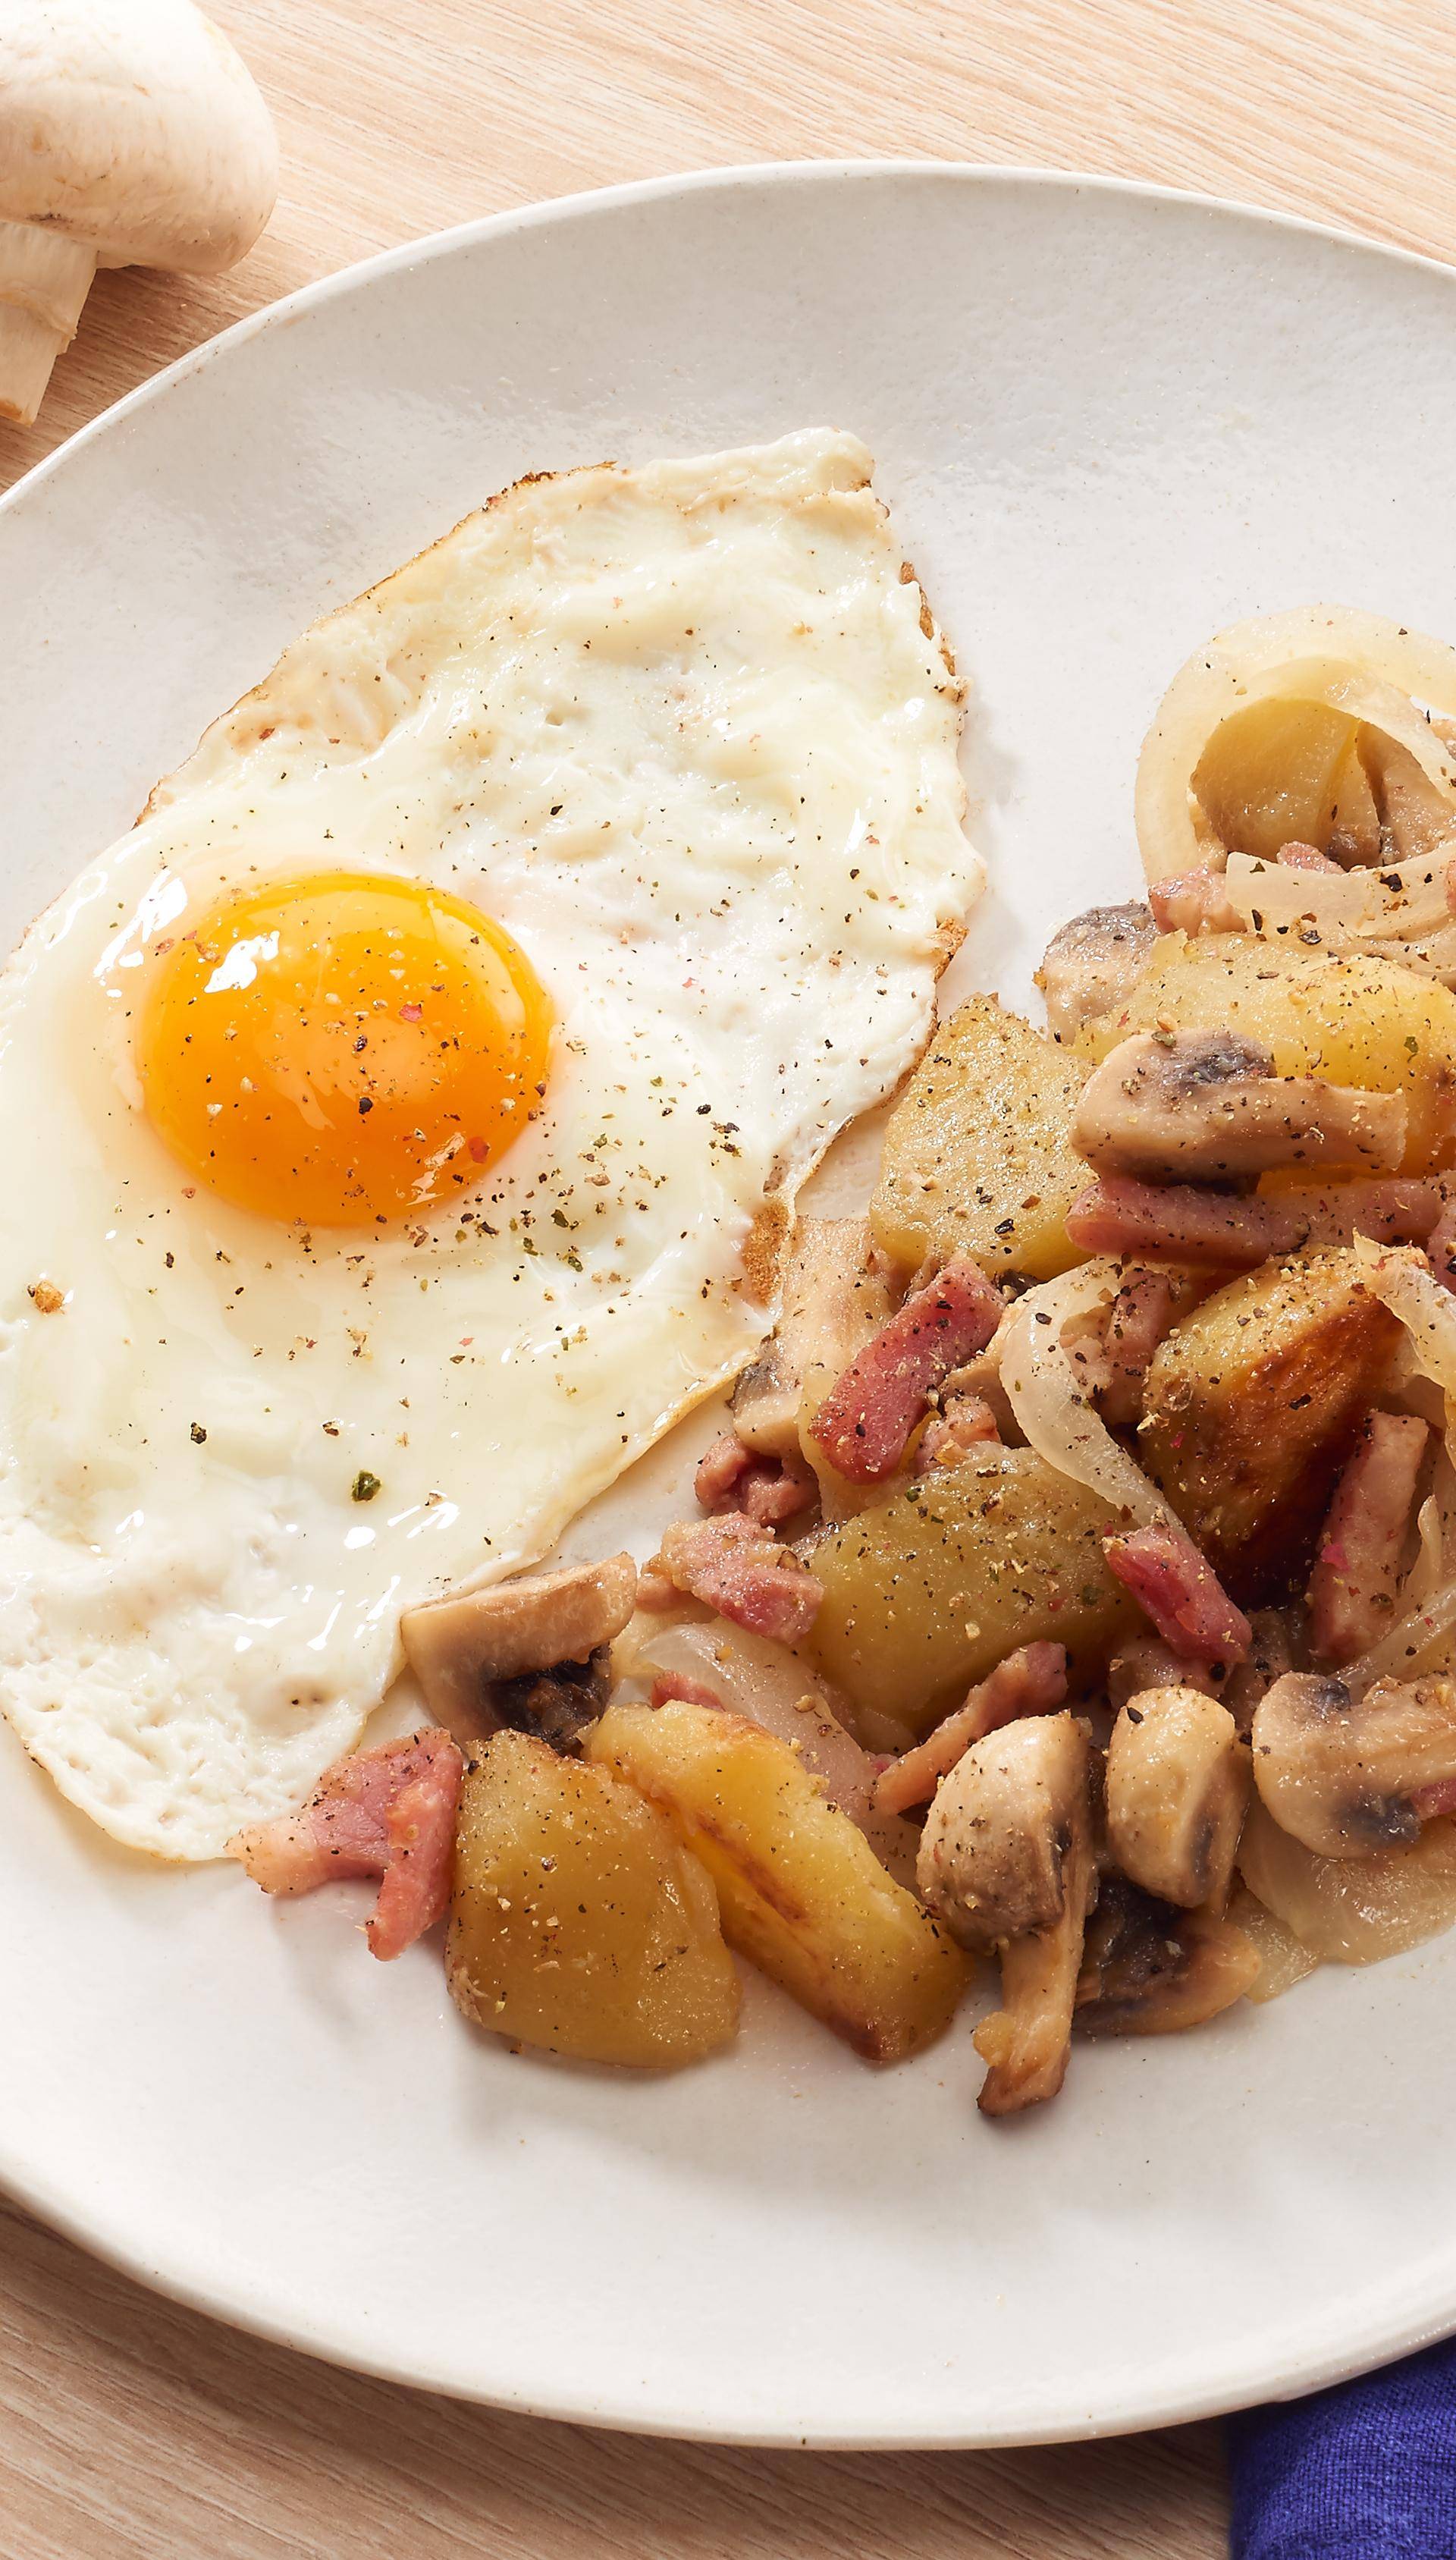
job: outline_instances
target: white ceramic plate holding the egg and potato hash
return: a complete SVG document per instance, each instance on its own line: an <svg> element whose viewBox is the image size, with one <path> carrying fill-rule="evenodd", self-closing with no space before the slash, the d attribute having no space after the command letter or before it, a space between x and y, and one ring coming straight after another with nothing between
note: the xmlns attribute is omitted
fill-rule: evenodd
<svg viewBox="0 0 1456 2560"><path fill-rule="evenodd" d="M834 422L975 684L957 983L1021 998L1047 927L1134 886L1139 737L1200 637L1325 596L1456 637L1453 415L1451 274L1077 179L747 172L399 251L0 509L3 937L284 640L519 471ZM765 1987L663 2084L512 2058L343 1892L148 1869L8 1731L0 1782L0 2176L271 2337L555 2417L993 2445L1456 2324L1456 1940L1082 2048L988 2125L965 2022L875 2076Z"/></svg>

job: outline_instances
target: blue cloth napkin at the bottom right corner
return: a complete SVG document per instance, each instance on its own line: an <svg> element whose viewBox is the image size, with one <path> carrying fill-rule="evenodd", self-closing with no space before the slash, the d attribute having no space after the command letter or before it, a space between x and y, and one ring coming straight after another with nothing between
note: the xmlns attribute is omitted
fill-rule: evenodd
<svg viewBox="0 0 1456 2560"><path fill-rule="evenodd" d="M1456 2340L1228 2419L1231 2560L1456 2560Z"/></svg>

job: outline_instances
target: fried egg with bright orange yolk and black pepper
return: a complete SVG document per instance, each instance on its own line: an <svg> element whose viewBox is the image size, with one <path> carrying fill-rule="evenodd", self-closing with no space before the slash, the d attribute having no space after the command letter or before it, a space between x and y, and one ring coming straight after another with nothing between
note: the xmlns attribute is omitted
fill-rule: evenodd
<svg viewBox="0 0 1456 2560"><path fill-rule="evenodd" d="M752 1357L980 886L839 433L532 479L330 614L0 980L0 1702L115 1838L297 1802L399 1613Z"/></svg>

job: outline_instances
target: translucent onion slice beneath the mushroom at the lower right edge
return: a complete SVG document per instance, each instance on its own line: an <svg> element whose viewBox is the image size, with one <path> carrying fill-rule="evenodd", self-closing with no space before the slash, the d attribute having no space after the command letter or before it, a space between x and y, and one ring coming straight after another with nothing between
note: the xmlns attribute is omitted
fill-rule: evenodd
<svg viewBox="0 0 1456 2560"><path fill-rule="evenodd" d="M1238 1843L1249 1889L1323 1964L1379 1964L1456 1920L1456 1823L1428 1823L1412 1848L1374 1859L1315 1859L1249 1807Z"/></svg>

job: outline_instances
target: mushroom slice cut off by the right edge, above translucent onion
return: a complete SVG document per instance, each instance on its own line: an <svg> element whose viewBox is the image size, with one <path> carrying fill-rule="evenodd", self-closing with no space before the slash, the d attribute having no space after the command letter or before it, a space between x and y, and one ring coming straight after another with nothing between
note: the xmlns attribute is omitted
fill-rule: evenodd
<svg viewBox="0 0 1456 2560"><path fill-rule="evenodd" d="M1254 1782L1282 1830L1320 1859L1369 1859L1451 1812L1456 1687L1290 1672L1254 1713Z"/></svg>

